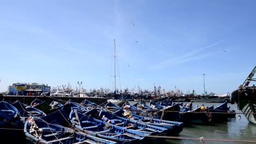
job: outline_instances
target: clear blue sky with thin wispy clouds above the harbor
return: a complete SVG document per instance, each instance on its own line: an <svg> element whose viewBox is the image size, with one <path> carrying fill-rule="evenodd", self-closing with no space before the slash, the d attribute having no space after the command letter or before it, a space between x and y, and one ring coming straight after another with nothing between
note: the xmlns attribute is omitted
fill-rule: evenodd
<svg viewBox="0 0 256 144"><path fill-rule="evenodd" d="M255 66L255 1L3 1L0 92L82 81L226 94ZM133 25L133 23L135 25ZM137 43L136 43L137 41Z"/></svg>

